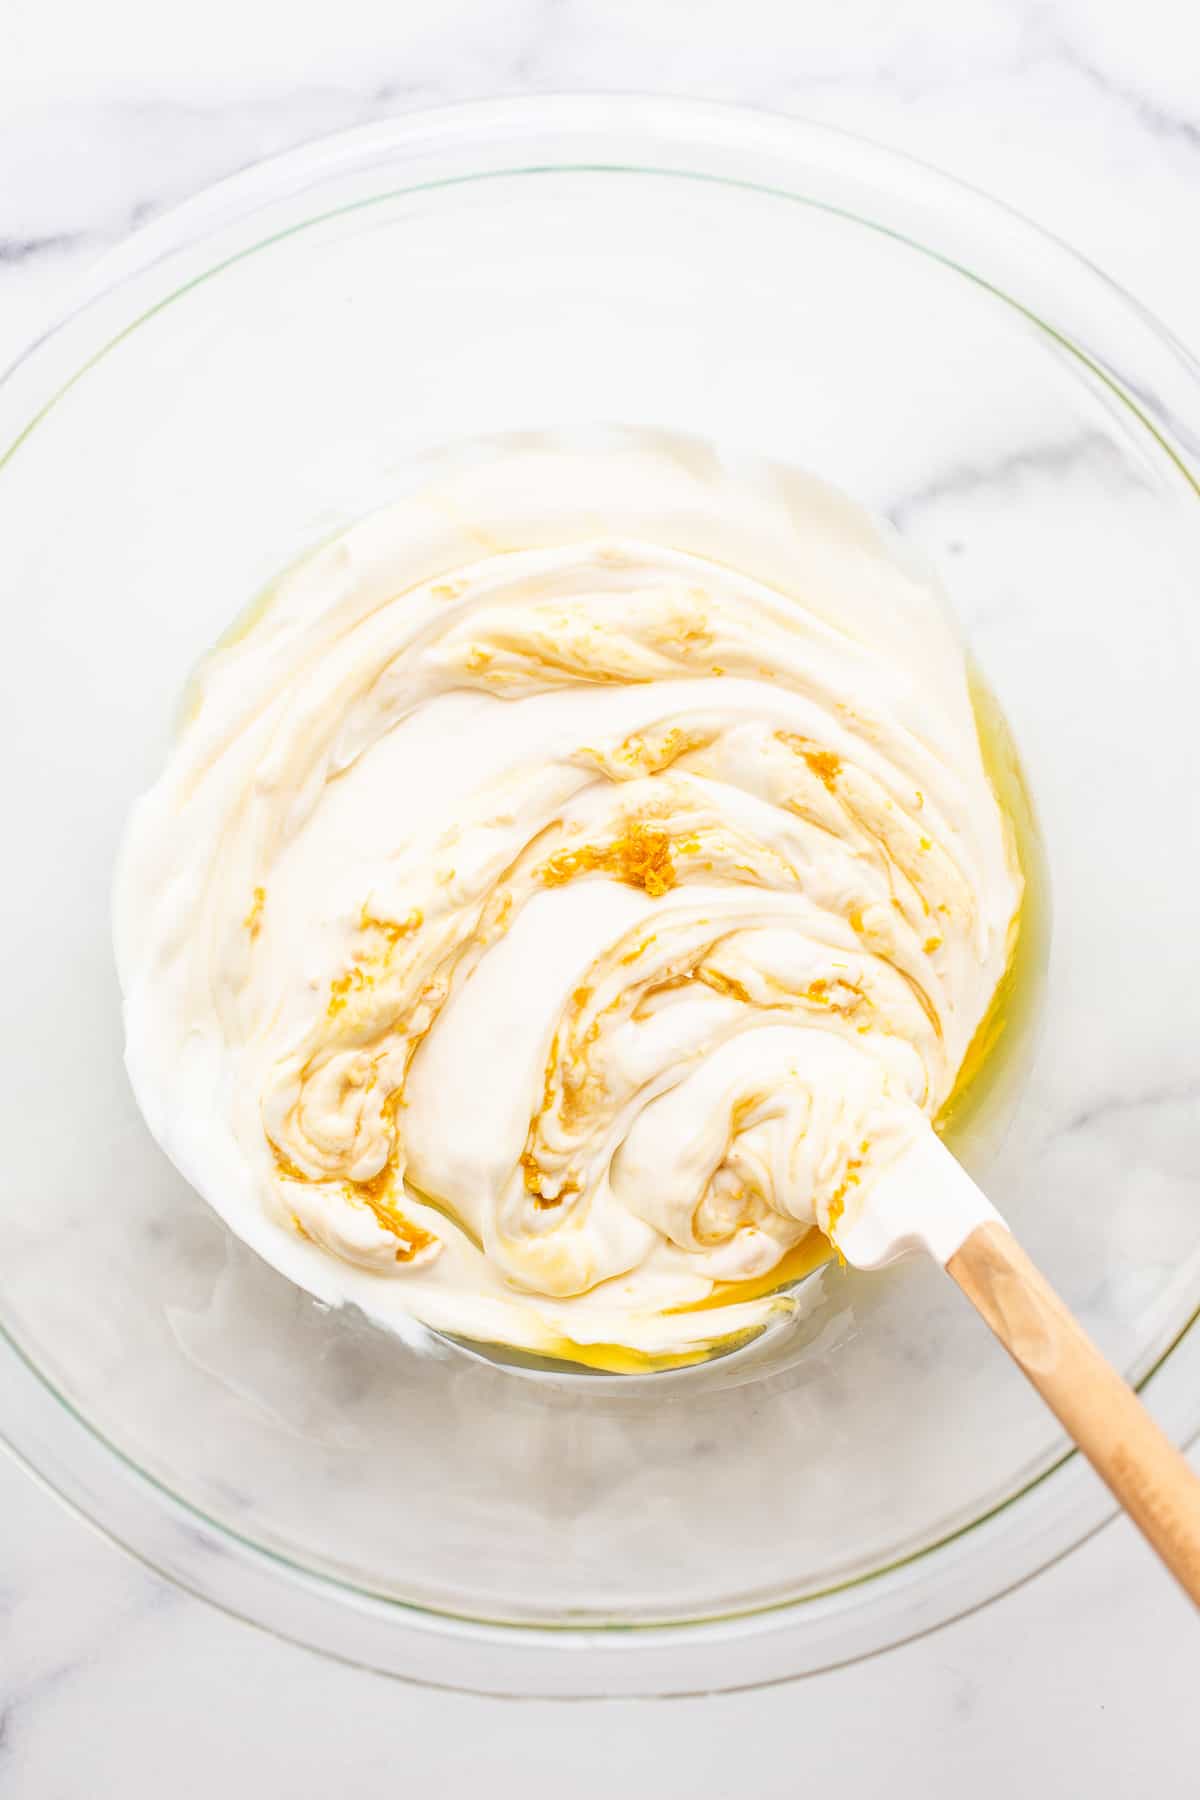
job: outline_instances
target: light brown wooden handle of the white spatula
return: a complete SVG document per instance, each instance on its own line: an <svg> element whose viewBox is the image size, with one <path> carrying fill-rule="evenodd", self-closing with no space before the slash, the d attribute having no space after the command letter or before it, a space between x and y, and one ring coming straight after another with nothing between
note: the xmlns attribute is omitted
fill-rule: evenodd
<svg viewBox="0 0 1200 1800"><path fill-rule="evenodd" d="M946 1269L1200 1606L1200 1476L1006 1226L977 1226Z"/></svg>

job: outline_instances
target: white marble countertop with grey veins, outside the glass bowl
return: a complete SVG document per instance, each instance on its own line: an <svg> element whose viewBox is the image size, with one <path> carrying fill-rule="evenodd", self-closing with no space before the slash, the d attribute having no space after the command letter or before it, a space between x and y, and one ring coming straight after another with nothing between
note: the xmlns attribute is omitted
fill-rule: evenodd
<svg viewBox="0 0 1200 1800"><path fill-rule="evenodd" d="M820 13L820 16L817 16ZM1200 18L1178 0L5 0L0 364L113 239L308 137L639 88L824 119L1069 238L1193 347ZM982 1613L761 1694L407 1688L175 1591L0 1462L0 1795L1196 1793L1196 1624L1124 1523Z"/></svg>

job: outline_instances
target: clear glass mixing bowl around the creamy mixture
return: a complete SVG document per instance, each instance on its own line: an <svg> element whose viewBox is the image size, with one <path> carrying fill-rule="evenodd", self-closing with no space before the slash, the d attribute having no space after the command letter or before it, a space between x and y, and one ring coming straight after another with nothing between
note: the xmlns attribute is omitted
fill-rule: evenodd
<svg viewBox="0 0 1200 1800"><path fill-rule="evenodd" d="M500 1692L853 1658L1110 1512L936 1269L770 1354L432 1359L234 1242L121 1062L108 884L180 684L434 446L610 421L811 468L939 571L1022 747L1043 1030L984 1170L1175 1438L1200 1424L1200 383L1061 245L826 130L552 99L317 144L139 234L0 387L0 1422L236 1613Z"/></svg>

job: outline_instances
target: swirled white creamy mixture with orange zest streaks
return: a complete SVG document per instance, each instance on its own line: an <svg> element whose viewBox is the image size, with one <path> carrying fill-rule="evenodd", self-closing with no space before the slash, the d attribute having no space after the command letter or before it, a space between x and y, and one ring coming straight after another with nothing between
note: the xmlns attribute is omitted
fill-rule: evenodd
<svg viewBox="0 0 1200 1800"><path fill-rule="evenodd" d="M676 439L509 445L203 664L117 875L128 1066L322 1300L687 1352L937 1114L1020 893L963 650L867 515Z"/></svg>

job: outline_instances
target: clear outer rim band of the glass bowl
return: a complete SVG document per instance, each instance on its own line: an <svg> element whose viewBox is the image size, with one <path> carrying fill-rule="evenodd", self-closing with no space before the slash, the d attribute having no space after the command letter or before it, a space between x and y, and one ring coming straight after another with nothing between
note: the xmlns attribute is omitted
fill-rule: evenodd
<svg viewBox="0 0 1200 1800"><path fill-rule="evenodd" d="M410 113L272 157L184 202L103 257L72 304L0 378L22 421L0 437L0 470L67 387L191 286L166 281L79 356L76 335L103 301L121 301L178 252L281 202L389 167L396 194L502 173L590 169L676 175L766 191L891 232L993 290L1052 333L1130 407L1200 495L1200 367L1135 299L1065 243L941 171L824 124L655 95L545 95ZM408 171L408 173L405 173ZM824 184L824 198L804 180ZM871 216L855 198L871 200ZM290 229L367 202L322 207ZM277 236L236 252L254 254ZM205 274L228 261L218 257ZM1009 281L1009 272L1018 279ZM1036 274L1031 274L1036 272ZM1085 320L1079 329L1076 319ZM61 373L63 349L74 367ZM7 427L0 418L0 428ZM1200 1391L1180 1368L1196 1319L1142 1377L1177 1435L1200 1433ZM1180 1426L1182 1420L1182 1426ZM756 1687L905 1642L1009 1591L1065 1555L1115 1512L1078 1453L1065 1451L1016 1494L912 1557L829 1593L752 1613L671 1625L497 1625L425 1611L237 1537L108 1444L0 1327L0 1438L88 1523L131 1555L223 1609L326 1654L408 1679L493 1694L685 1694Z"/></svg>

